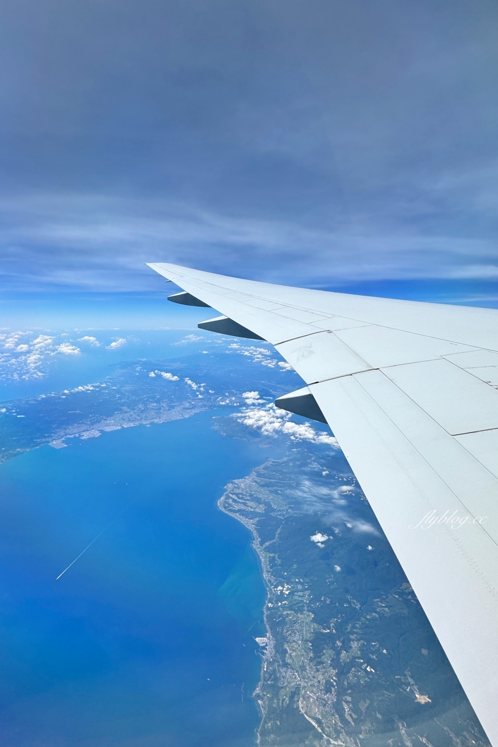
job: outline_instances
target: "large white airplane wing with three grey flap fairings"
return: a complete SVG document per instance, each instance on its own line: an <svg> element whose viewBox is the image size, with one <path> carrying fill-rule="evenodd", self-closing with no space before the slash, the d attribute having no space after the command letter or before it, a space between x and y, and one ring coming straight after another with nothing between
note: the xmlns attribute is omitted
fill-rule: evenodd
<svg viewBox="0 0 498 747"><path fill-rule="evenodd" d="M305 380L278 406L329 423L498 747L498 311L149 267Z"/></svg>

